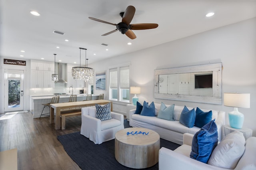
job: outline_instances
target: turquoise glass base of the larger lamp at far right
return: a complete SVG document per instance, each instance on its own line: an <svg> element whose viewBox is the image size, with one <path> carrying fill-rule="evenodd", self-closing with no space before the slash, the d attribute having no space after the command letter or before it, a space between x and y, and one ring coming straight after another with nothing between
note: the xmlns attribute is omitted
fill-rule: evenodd
<svg viewBox="0 0 256 170"><path fill-rule="evenodd" d="M228 113L228 119L230 127L232 128L242 128L244 124L244 114L238 112L237 107L234 108L234 111Z"/></svg>

